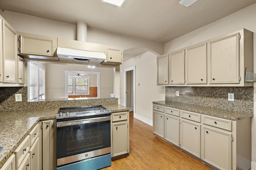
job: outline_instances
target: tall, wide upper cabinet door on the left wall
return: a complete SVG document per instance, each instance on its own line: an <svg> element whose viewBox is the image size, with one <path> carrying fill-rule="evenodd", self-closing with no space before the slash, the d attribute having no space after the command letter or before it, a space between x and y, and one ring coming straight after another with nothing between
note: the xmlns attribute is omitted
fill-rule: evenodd
<svg viewBox="0 0 256 170"><path fill-rule="evenodd" d="M3 82L17 83L17 34L4 20L2 21L3 38Z"/></svg>

